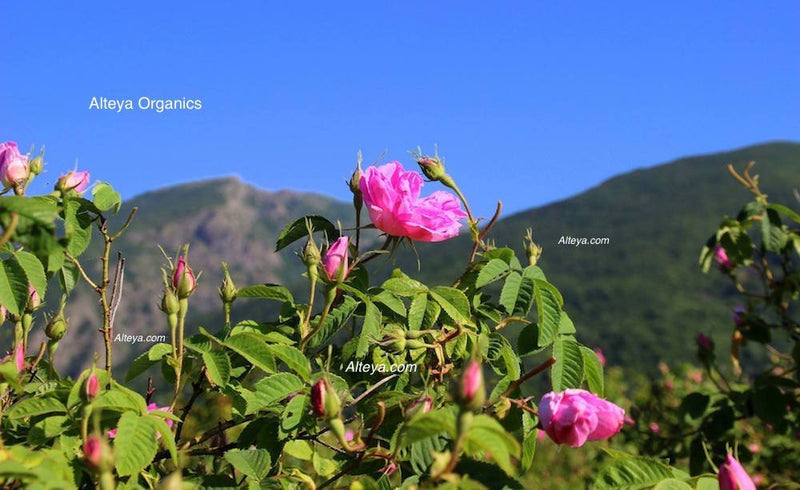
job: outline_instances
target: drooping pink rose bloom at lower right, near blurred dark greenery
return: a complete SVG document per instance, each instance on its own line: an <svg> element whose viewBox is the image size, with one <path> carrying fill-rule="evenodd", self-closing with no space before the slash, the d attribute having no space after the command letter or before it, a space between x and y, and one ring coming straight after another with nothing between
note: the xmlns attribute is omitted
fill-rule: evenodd
<svg viewBox="0 0 800 490"><path fill-rule="evenodd" d="M539 403L539 420L556 444L583 446L622 429L625 410L586 390L550 392Z"/></svg>

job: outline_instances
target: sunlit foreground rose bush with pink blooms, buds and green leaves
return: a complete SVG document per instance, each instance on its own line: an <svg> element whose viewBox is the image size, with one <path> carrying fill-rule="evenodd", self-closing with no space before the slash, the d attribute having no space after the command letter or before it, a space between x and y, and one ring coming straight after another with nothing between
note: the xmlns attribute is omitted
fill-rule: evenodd
<svg viewBox="0 0 800 490"><path fill-rule="evenodd" d="M112 229L119 194L95 182L89 196L88 173L77 170L52 194L28 196L42 156L29 162L16 145L2 148L3 183L14 193L0 197L0 304L3 328L13 330L11 354L0 362L6 487L522 488L545 433L548 443L606 451L597 488L716 481L711 472L690 476L591 442L612 438L624 421L618 400L604 398L604 359L576 338L568 302L537 265L543 250L531 234L525 262L492 244L500 206L480 227L438 156L419 154L417 163L432 185L449 190L421 197L422 176L397 162L359 168L350 179L355 228L305 216L283 229L278 250L302 246L304 298L277 284L238 287L223 264L225 321L187 325L193 293L209 285L184 247L163 269L169 343L119 366L111 332L124 263L109 262L135 209ZM371 225L360 225L362 207ZM472 252L448 286L423 284L413 272L368 271L401 242L443 241L464 224ZM365 228L385 234L382 247L361 248ZM102 238L97 277L83 265L94 234ZM728 256L735 268L739 256ZM53 359L70 334L63 307L78 280L97 294L105 352L73 380ZM62 301L43 315L52 309L43 305L55 304L43 302L46 295ZM259 300L276 302L279 313L231 321L235 303ZM524 326L517 345L503 335L511 324ZM48 339L38 347L29 342L37 328ZM354 362L413 369L376 377L345 367ZM121 370L127 383L154 367L162 373L155 383L172 387L163 405L152 389L119 381ZM533 388L539 375L547 375L546 390ZM222 420L193 423L220 400L229 406ZM720 474L741 479L733 466Z"/></svg>

